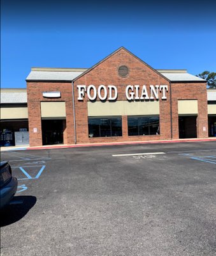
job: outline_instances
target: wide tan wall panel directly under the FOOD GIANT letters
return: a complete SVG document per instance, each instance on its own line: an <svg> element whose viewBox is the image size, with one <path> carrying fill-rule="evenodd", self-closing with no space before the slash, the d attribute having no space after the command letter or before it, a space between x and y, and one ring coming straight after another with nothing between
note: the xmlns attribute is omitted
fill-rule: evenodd
<svg viewBox="0 0 216 256"><path fill-rule="evenodd" d="M159 115L159 101L88 102L88 116Z"/></svg>

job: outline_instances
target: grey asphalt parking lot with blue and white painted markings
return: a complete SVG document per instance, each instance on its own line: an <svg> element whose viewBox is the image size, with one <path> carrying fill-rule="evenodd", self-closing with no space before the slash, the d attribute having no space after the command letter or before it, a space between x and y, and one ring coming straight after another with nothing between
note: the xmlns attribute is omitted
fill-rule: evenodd
<svg viewBox="0 0 216 256"><path fill-rule="evenodd" d="M1 152L1 255L216 255L216 142Z"/></svg>

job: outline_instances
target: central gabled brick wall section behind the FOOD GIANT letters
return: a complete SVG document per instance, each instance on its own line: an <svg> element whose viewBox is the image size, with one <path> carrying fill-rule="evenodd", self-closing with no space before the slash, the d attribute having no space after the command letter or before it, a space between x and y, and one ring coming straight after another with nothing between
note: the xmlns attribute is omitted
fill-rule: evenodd
<svg viewBox="0 0 216 256"><path fill-rule="evenodd" d="M127 77L120 77L118 68L121 65L126 65L129 68L129 75ZM97 142L113 142L113 141L144 141L144 140L164 140L171 138L171 122L170 122L170 104L169 104L169 88L168 98L161 99L160 101L160 129L161 135L155 136L127 136L127 116L122 116L122 137L113 138L89 138L88 134L88 114L87 114L87 95L83 101L77 100L78 98L78 84L94 84L96 88L100 84L108 86L113 84L117 86L118 98L117 100L126 99L126 86L128 84L139 84L147 86L148 94L150 95L149 86L167 84L169 82L164 79L160 74L152 70L152 68L145 65L138 58L134 57L124 49L115 52L110 58L102 61L99 65L93 68L90 72L83 75L75 81L75 109L76 109L76 135L78 143L97 143ZM99 100L98 97L96 100Z"/></svg>

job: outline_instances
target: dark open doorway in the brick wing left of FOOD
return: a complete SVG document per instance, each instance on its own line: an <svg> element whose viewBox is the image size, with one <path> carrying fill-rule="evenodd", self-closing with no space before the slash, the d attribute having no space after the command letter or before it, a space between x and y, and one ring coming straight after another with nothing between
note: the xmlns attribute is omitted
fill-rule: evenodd
<svg viewBox="0 0 216 256"><path fill-rule="evenodd" d="M64 120L41 120L43 145L63 143Z"/></svg>

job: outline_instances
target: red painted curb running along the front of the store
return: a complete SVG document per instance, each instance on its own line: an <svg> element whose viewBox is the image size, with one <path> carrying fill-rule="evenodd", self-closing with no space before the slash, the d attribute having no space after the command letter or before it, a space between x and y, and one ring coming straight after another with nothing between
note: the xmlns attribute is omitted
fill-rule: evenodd
<svg viewBox="0 0 216 256"><path fill-rule="evenodd" d="M134 144L157 144L157 143L184 143L184 142L201 142L201 141L216 141L214 139L197 139L197 140L162 140L162 141L127 141L127 142L113 142L113 143L95 143L95 144L75 144L75 145L57 145L57 146L42 146L42 147L28 147L26 150L41 150L41 149L58 149L58 148L77 148L77 147L102 147L113 145L134 145Z"/></svg>

